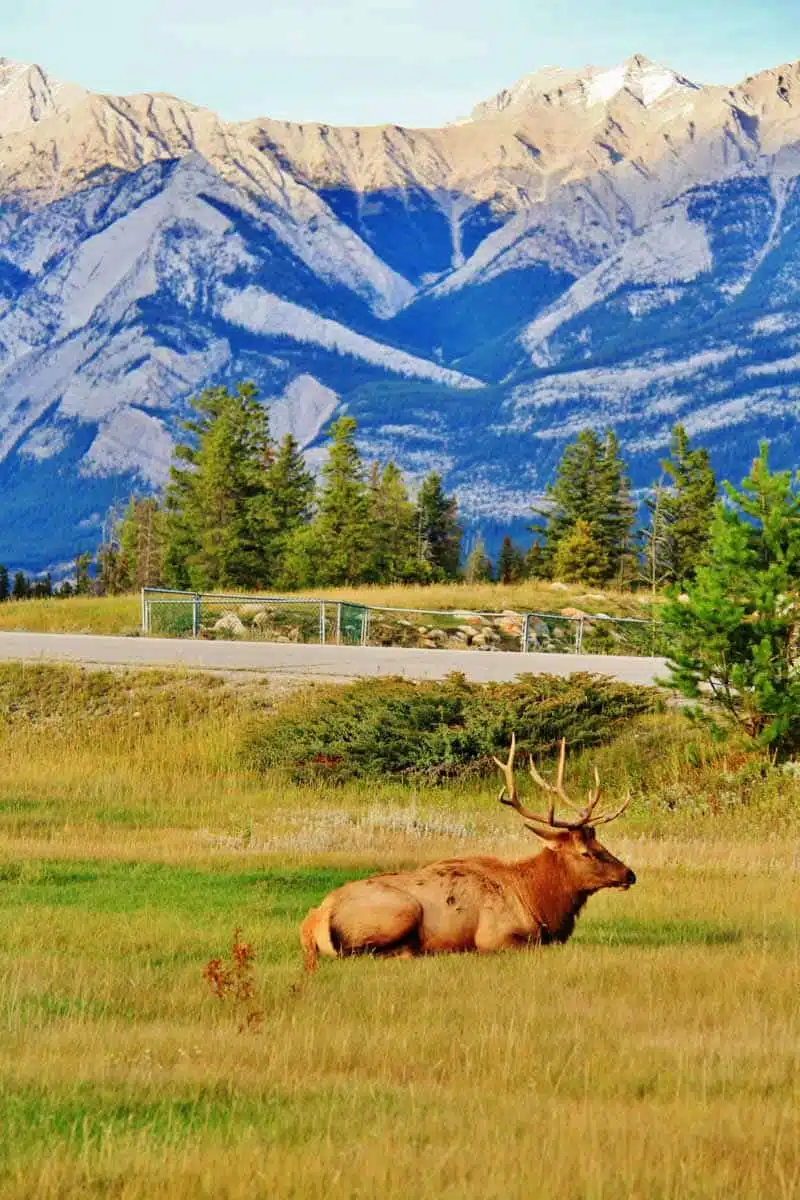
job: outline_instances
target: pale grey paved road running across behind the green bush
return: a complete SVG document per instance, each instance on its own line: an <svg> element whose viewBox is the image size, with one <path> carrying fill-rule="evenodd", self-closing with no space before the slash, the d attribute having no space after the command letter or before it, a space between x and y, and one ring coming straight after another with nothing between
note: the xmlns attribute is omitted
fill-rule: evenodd
<svg viewBox="0 0 800 1200"><path fill-rule="evenodd" d="M337 679L355 679L361 676L443 679L451 671L462 671L476 683L509 680L522 672L569 676L576 671L591 671L625 683L650 684L666 671L663 659L601 654L193 642L166 637L95 637L86 634L0 634L0 660L2 659L108 666L185 666L205 671L266 671L294 677Z"/></svg>

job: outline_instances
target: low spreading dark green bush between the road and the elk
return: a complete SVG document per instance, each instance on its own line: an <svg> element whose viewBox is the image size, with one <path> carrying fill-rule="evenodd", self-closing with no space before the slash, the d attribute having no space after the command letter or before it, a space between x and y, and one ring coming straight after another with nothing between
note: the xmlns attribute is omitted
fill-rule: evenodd
<svg viewBox="0 0 800 1200"><path fill-rule="evenodd" d="M588 746L651 712L649 688L577 674L521 676L516 683L471 684L363 679L289 701L247 738L249 766L285 768L299 780L425 778L485 774L507 752L546 754L559 738Z"/></svg>

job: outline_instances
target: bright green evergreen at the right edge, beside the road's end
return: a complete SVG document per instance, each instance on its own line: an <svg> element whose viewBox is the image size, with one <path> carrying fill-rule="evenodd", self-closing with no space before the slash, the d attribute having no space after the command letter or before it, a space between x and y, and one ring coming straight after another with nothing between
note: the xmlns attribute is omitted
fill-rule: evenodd
<svg viewBox="0 0 800 1200"><path fill-rule="evenodd" d="M776 757L800 749L799 482L763 443L741 490L724 485L687 601L662 612L673 684Z"/></svg>

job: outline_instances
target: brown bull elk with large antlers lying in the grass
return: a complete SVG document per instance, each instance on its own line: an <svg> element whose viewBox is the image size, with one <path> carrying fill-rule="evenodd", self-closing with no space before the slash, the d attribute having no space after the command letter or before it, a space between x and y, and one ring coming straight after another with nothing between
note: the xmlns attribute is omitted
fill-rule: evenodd
<svg viewBox="0 0 800 1200"><path fill-rule="evenodd" d="M548 796L547 814L531 812L515 784L516 749L512 736L507 762L494 758L505 780L498 799L545 842L540 853L515 863L488 856L445 859L336 888L302 923L307 971L315 970L320 954L413 958L566 942L593 893L636 883L633 871L595 836L595 827L621 816L628 802L614 812L595 815L601 794L595 769L595 787L578 809L564 788L563 740L555 784L542 779L529 758L534 782ZM572 820L555 816L557 799L572 809Z"/></svg>

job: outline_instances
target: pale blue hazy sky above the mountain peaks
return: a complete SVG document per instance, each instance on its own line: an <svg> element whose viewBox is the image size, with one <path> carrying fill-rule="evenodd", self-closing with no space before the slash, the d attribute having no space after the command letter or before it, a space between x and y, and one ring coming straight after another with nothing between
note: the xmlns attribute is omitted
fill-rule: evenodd
<svg viewBox="0 0 800 1200"><path fill-rule="evenodd" d="M800 59L799 0L0 0L0 55L229 119L437 125L542 66L698 82Z"/></svg>

